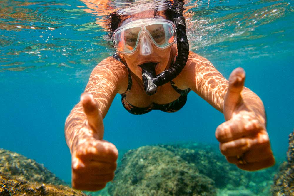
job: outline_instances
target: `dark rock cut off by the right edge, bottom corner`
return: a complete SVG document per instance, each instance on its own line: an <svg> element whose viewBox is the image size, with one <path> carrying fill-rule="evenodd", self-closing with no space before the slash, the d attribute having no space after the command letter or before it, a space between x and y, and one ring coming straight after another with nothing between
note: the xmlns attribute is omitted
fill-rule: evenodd
<svg viewBox="0 0 294 196"><path fill-rule="evenodd" d="M271 192L273 196L294 195L294 131L289 135L287 161L280 166L279 172L275 175Z"/></svg>

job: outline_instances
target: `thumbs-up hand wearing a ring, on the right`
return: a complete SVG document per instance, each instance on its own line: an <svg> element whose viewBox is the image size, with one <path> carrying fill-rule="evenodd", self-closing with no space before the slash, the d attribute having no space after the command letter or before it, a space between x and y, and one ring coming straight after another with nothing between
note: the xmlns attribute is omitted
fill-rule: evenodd
<svg viewBox="0 0 294 196"><path fill-rule="evenodd" d="M217 127L216 138L228 162L240 169L255 171L274 165L275 159L265 128L265 117L250 109L249 103L244 103L241 96L244 81L244 70L233 70L224 99L226 122Z"/></svg>

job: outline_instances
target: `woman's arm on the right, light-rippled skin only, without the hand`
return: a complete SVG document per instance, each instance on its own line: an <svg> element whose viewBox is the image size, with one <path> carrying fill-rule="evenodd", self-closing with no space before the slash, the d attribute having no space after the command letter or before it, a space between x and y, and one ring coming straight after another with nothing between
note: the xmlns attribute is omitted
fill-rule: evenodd
<svg viewBox="0 0 294 196"><path fill-rule="evenodd" d="M187 86L223 113L229 81L206 58L192 52L190 54L186 64ZM264 107L260 98L246 87L243 87L241 94L247 106L265 120Z"/></svg>

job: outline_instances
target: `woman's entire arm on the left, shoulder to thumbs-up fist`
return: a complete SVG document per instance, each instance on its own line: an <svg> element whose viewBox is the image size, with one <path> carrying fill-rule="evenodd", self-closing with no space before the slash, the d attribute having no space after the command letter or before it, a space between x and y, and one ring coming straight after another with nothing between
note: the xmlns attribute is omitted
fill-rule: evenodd
<svg viewBox="0 0 294 196"><path fill-rule="evenodd" d="M103 60L92 71L80 103L66 119L74 188L99 190L114 177L118 152L113 144L103 140L103 118L116 93L126 89L127 76L120 62L112 57Z"/></svg>

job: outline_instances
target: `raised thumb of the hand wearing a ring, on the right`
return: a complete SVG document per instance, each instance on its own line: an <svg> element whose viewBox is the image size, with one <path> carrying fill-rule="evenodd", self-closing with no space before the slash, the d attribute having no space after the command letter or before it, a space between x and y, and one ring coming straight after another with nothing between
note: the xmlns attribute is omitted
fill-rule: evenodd
<svg viewBox="0 0 294 196"><path fill-rule="evenodd" d="M229 120L235 107L242 102L241 91L245 82L245 71L243 68L235 68L229 77L229 87L224 98L223 113L225 120Z"/></svg>

